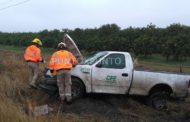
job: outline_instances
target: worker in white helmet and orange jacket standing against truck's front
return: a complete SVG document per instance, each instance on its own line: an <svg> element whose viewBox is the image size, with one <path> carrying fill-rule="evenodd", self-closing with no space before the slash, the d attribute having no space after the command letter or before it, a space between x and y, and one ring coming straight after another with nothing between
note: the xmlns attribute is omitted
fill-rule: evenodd
<svg viewBox="0 0 190 122"><path fill-rule="evenodd" d="M71 69L77 64L73 54L67 51L66 44L61 42L58 44L58 51L55 52L49 62L51 73L57 72L57 85L59 87L59 95L62 101L71 102Z"/></svg>

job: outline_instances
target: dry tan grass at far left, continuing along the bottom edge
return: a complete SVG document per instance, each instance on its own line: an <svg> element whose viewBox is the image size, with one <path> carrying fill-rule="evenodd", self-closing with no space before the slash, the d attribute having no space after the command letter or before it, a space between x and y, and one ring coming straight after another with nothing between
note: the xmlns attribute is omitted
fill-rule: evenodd
<svg viewBox="0 0 190 122"><path fill-rule="evenodd" d="M28 100L38 94L28 86L29 69L17 53L0 52L0 122L83 122L106 121L91 115L81 117L72 113L53 113L35 117L28 113ZM47 56L48 57L48 56ZM43 69L44 66L41 66Z"/></svg>

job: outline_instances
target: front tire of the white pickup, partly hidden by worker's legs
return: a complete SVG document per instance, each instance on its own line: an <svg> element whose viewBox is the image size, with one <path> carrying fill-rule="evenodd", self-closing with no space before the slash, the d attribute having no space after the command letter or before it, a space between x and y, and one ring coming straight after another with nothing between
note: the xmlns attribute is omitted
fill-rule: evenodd
<svg viewBox="0 0 190 122"><path fill-rule="evenodd" d="M72 99L76 100L83 97L85 94L85 87L83 83L77 79L72 78Z"/></svg>

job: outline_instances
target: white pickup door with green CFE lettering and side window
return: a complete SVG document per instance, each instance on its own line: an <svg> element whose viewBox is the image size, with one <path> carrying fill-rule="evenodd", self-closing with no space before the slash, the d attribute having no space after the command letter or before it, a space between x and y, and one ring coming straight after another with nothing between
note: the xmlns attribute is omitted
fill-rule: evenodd
<svg viewBox="0 0 190 122"><path fill-rule="evenodd" d="M92 92L125 94L130 87L125 55L112 53L92 68Z"/></svg>

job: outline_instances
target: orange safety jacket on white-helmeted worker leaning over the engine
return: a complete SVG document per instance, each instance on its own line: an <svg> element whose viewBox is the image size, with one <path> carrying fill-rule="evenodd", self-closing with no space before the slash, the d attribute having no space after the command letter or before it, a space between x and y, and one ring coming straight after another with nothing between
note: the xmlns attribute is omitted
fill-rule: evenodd
<svg viewBox="0 0 190 122"><path fill-rule="evenodd" d="M60 69L72 69L73 65L76 64L77 60L71 52L60 50L52 55L49 68L56 71Z"/></svg>

